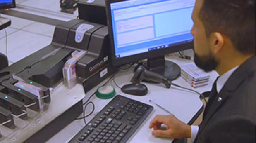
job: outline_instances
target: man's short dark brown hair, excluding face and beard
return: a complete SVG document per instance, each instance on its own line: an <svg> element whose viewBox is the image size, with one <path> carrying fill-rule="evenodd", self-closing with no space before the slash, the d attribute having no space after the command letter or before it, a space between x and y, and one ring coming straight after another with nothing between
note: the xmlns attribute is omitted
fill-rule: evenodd
<svg viewBox="0 0 256 143"><path fill-rule="evenodd" d="M243 54L255 54L255 0L204 0L199 12L207 37L220 32Z"/></svg>

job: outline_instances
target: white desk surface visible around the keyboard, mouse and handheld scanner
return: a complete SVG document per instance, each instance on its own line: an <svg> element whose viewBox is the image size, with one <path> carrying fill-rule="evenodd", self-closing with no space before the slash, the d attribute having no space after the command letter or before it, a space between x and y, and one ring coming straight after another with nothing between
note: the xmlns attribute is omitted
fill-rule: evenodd
<svg viewBox="0 0 256 143"><path fill-rule="evenodd" d="M193 61L189 61L186 59L180 59L177 57L167 57L166 59L177 63L179 66L183 66L186 63L190 63ZM130 79L133 76L133 68L129 68L128 70L121 70L115 75L115 82L122 87L124 84L130 83ZM203 93L205 91L210 91L211 86L218 76L218 73L211 72L210 81L208 86L198 87L195 90ZM104 83L103 81L102 83ZM189 84L179 77L178 79L173 81L175 84L182 85L187 88ZM184 89L179 89L176 87L170 87L167 89L164 84L149 84L144 83L148 87L148 94L146 96L132 96L128 94L122 93L122 91L114 84L113 81L109 82L108 85L115 87L117 94L127 96L128 98L132 98L154 107L153 112L147 117L147 119L141 124L139 129L132 135L132 137L127 141L127 143L138 143L143 141L145 143L170 143L172 141L168 138L156 138L151 136L152 129L149 129L149 123L155 117L155 115L168 115L168 113L156 106L155 104L149 102L148 100L151 99L158 103L159 105L163 106L165 109L169 110L173 113L179 120L189 124L191 120L194 120L193 117L201 111L203 108L203 103L199 99L199 94L196 94L191 91L186 91ZM77 89L81 89L80 84L77 84ZM100 86L100 85L99 85ZM86 94L84 101L86 101L91 94L96 91L95 87L89 93ZM191 88L192 89L192 88ZM84 94L84 91L80 91L79 94ZM90 101L95 104L95 110L92 115L86 118L86 122L88 123L111 99L99 99L96 96L93 96ZM89 105L86 108L86 114L90 113L92 106ZM82 115L81 115L82 116ZM84 127L83 120L75 120L74 122L70 123L67 127L62 129L59 133L55 136L50 138L47 143L66 143L68 142L75 134L77 134L83 127Z"/></svg>

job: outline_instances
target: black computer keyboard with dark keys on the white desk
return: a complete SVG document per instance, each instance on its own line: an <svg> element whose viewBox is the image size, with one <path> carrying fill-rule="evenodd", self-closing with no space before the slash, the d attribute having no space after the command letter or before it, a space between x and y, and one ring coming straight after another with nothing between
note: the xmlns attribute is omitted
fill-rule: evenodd
<svg viewBox="0 0 256 143"><path fill-rule="evenodd" d="M125 143L153 110L116 95L69 143Z"/></svg>

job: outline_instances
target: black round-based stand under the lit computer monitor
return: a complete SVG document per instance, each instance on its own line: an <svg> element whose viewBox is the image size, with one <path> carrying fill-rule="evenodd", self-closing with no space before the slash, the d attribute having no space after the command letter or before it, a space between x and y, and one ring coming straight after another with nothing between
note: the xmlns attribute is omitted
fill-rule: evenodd
<svg viewBox="0 0 256 143"><path fill-rule="evenodd" d="M165 56L148 58L147 63L144 63L143 66L148 70L163 75L170 81L177 79L181 73L180 67L172 61L165 60ZM136 68L134 71L136 71Z"/></svg>

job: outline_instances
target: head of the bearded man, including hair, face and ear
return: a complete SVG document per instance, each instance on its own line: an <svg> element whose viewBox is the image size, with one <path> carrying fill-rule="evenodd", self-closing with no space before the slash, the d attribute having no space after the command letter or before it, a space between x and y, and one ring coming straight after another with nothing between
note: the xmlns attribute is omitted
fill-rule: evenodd
<svg viewBox="0 0 256 143"><path fill-rule="evenodd" d="M233 51L255 54L255 0L196 0L192 19L199 68L215 70Z"/></svg>

